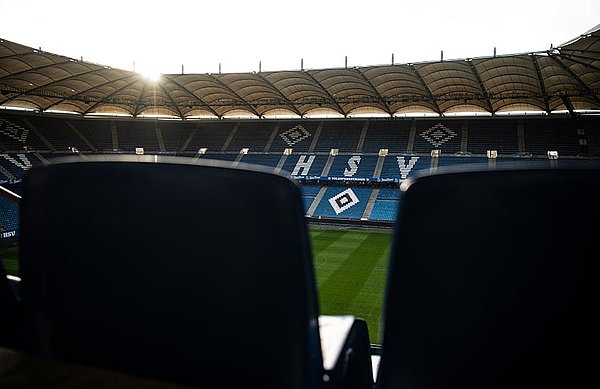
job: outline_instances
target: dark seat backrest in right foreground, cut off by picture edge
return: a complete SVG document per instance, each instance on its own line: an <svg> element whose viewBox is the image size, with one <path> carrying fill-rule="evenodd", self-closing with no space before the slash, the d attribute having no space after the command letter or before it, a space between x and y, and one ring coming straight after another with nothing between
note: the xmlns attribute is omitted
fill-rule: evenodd
<svg viewBox="0 0 600 389"><path fill-rule="evenodd" d="M378 387L598 387L600 171L440 173L402 189Z"/></svg>

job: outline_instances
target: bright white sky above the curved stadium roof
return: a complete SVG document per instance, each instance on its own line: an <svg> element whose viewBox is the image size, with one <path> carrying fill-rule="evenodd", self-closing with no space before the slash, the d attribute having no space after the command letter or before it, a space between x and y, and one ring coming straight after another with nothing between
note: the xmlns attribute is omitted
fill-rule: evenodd
<svg viewBox="0 0 600 389"><path fill-rule="evenodd" d="M368 66L541 51L598 0L0 0L0 38L143 74Z"/></svg>

